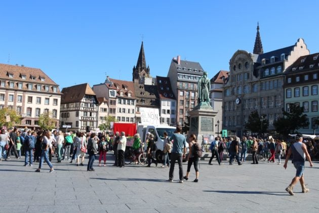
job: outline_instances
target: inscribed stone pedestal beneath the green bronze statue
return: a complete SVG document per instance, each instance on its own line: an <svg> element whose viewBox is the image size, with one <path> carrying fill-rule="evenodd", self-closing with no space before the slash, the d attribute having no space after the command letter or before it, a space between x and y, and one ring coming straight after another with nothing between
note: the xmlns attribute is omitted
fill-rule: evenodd
<svg viewBox="0 0 319 213"><path fill-rule="evenodd" d="M215 139L215 121L217 112L213 110L210 103L200 102L189 112L190 125L189 134L195 134L198 143L202 146Z"/></svg>

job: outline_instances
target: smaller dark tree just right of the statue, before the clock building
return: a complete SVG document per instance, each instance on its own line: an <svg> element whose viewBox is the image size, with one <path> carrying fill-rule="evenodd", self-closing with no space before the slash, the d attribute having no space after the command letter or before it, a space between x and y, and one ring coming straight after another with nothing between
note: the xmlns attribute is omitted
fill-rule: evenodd
<svg viewBox="0 0 319 213"><path fill-rule="evenodd" d="M251 112L248 117L248 122L245 124L245 128L254 133L265 133L267 132L269 121L266 119L266 115L259 117L257 110Z"/></svg>

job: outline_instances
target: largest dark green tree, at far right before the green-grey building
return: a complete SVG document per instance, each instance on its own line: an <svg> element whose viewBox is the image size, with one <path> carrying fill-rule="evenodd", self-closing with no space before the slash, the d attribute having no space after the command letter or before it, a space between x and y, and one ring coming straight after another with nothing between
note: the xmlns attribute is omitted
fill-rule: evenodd
<svg viewBox="0 0 319 213"><path fill-rule="evenodd" d="M303 114L303 107L290 103L289 109L289 112L283 109L284 116L273 123L276 131L284 136L298 133L297 129L309 125L307 115Z"/></svg>

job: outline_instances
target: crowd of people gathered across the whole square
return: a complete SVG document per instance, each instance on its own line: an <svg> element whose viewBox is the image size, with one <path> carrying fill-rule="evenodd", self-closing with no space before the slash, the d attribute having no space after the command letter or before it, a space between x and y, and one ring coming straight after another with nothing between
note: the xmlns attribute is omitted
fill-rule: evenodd
<svg viewBox="0 0 319 213"><path fill-rule="evenodd" d="M150 132L146 133L147 139L145 145L147 148L145 151L147 166L150 167L152 163L155 163L155 166L161 163L162 168L168 166L170 168L168 181L173 182L174 167L177 161L179 165L179 182L183 183L184 180L188 180L190 168L193 165L195 170L195 180L193 182L198 182L198 163L201 157L198 155L198 149L201 148L198 147L201 146L196 140L196 135L190 134L186 139L181 131L181 127L178 126L171 137L169 137L167 132L164 132L163 160L157 159L155 156L157 147L154 141L154 135ZM186 146L186 141L188 146ZM106 153L113 151L115 157L113 166L122 168L125 166L126 146L127 138L125 132L115 132L114 136L110 137L107 133L73 133L72 131L64 133L57 130L51 132L42 129L38 131L28 129L20 131L17 128L7 131L2 129L0 134L0 161L2 161L2 159L9 160L13 154L17 159L20 159L21 154L24 154L24 166L32 166L33 162L39 162L38 168L35 171L41 172L42 165L46 162L50 167L49 172L54 172L55 170L51 163L54 153L56 153L57 163L61 163L63 160L67 160L69 163L75 161L76 166L84 166L85 156L88 154L89 161L87 171L94 171L93 165L96 155L99 154L98 166L102 165L102 160L103 166L106 166ZM298 147L294 148L294 146ZM144 144L140 139L140 135L138 133L135 134L134 143L132 145L133 152L136 154L143 152L143 147ZM186 147L188 147L188 153ZM281 158L286 157L284 164L286 168L287 161L292 155L294 165L296 162L299 163L295 165L297 169L296 177L286 191L293 195L292 190L297 181L300 181L303 192L309 191L304 185L304 161L307 158L310 162L310 166L312 166L309 153L315 152L318 147L318 143L303 139L302 136L296 136L296 141L292 140L289 142L275 139L271 136L265 139L251 136L244 136L242 138L237 136L229 138L216 137L209 148L212 155L208 164L212 165L212 161L214 157L216 157L218 164L222 165L226 153L227 157L229 157L229 165L232 165L234 161L236 161L238 165L242 165L242 162L247 160L248 154L252 154L252 164L258 164L258 155L269 153L268 163L276 163L277 159L277 164L281 164ZM188 161L185 176L183 175L183 159ZM138 160L135 159L135 164L137 163Z"/></svg>

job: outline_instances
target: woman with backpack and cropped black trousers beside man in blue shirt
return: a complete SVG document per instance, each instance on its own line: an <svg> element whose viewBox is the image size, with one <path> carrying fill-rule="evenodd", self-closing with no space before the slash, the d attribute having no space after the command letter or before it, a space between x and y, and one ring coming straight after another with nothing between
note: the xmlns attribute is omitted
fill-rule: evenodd
<svg viewBox="0 0 319 213"><path fill-rule="evenodd" d="M187 171L186 171L186 176L184 176L184 179L187 181L188 180L188 175L190 172L190 167L194 163L194 169L195 169L195 180L193 182L197 183L198 182L198 176L200 175L200 172L198 171L198 162L199 162L199 157L197 153L198 146L200 147L200 150L202 149L201 146L197 143L196 140L196 135L190 134L189 136L189 153L187 156L188 164L187 164ZM197 148L196 148L197 147ZM196 148L196 149L195 149Z"/></svg>

